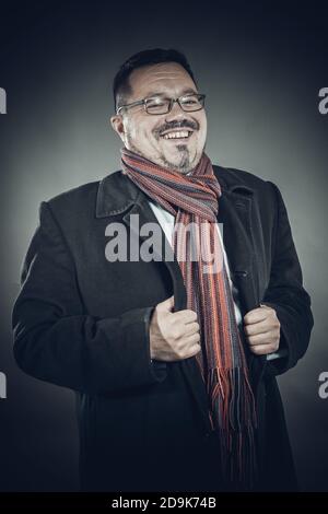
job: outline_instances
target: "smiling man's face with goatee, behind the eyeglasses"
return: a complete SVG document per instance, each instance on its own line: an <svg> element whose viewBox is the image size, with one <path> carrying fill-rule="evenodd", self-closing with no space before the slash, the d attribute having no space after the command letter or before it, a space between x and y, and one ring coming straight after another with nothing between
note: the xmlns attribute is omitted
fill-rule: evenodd
<svg viewBox="0 0 328 514"><path fill-rule="evenodd" d="M151 65L132 71L129 77L132 94L127 103L164 95L177 98L199 93L187 71L176 62ZM207 138L204 109L184 112L177 102L167 114L150 115L143 105L122 109L112 116L112 126L128 150L168 170L188 173L202 155ZM188 138L165 139L169 130L187 129Z"/></svg>

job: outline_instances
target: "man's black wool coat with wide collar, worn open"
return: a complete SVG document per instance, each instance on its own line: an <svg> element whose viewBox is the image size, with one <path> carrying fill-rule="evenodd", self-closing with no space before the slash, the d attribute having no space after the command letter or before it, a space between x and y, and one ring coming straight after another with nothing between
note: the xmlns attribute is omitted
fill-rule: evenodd
<svg viewBox="0 0 328 514"><path fill-rule="evenodd" d="M259 302L273 306L288 349L276 361L248 354L259 419L256 490L295 490L276 375L307 349L311 299L278 187L239 170L214 172L242 315ZM130 214L140 225L157 222L147 200L119 171L42 202L12 314L14 355L26 373L77 392L83 490L219 491L218 437L195 357L150 362L153 307L174 294L175 308L186 308L179 266L105 256L109 223L124 222L130 234Z"/></svg>

